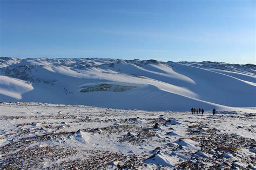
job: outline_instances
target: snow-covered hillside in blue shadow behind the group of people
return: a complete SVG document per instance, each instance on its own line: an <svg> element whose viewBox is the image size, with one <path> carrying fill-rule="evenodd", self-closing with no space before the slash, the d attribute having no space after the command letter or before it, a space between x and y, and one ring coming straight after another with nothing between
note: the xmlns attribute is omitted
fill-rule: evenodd
<svg viewBox="0 0 256 170"><path fill-rule="evenodd" d="M222 62L0 58L0 101L187 111L256 107L256 66Z"/></svg>

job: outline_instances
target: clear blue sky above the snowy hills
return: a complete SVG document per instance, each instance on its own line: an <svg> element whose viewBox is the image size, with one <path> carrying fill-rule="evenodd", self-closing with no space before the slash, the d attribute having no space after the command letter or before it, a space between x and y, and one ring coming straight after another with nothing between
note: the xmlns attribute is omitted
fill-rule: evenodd
<svg viewBox="0 0 256 170"><path fill-rule="evenodd" d="M0 0L0 55L255 63L254 0Z"/></svg>

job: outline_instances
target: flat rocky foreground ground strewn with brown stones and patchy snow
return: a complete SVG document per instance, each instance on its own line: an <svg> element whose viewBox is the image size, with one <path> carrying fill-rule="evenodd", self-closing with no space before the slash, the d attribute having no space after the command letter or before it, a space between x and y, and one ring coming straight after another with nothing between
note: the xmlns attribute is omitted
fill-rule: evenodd
<svg viewBox="0 0 256 170"><path fill-rule="evenodd" d="M255 169L255 116L1 103L0 168Z"/></svg>

